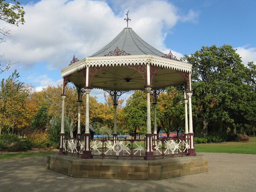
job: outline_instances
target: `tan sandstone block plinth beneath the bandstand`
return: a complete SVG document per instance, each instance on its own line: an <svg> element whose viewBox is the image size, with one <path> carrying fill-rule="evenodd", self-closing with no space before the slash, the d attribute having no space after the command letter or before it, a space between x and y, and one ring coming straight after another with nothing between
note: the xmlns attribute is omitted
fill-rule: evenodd
<svg viewBox="0 0 256 192"><path fill-rule="evenodd" d="M156 160L81 159L70 155L48 155L47 168L72 177L160 180L208 172L203 155L175 156Z"/></svg>

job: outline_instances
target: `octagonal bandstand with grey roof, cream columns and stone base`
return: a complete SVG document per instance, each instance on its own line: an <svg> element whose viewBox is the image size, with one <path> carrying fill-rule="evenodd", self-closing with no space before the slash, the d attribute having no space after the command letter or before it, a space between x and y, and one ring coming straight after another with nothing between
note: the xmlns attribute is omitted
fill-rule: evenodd
<svg viewBox="0 0 256 192"><path fill-rule="evenodd" d="M193 91L190 81L192 65L177 60L171 51L165 54L142 40L128 27L128 12L125 20L127 27L110 43L82 60L77 60L74 56L69 66L61 70L63 92L60 151L58 155L48 156L47 167L74 177L121 179L163 179L207 171L207 160L204 156L196 156L194 148L191 106ZM78 93L76 138L65 137L64 133L67 96L65 87L69 82L76 86ZM158 138L157 97L164 88L180 84L184 85L185 136ZM91 89L106 91L113 99L113 138L91 138ZM130 90L147 92L147 133L145 138L139 140L118 138L116 132L117 101L124 92ZM82 119L85 121L85 133L82 134L80 108L84 94L86 118ZM153 126L150 118L150 97L154 106Z"/></svg>

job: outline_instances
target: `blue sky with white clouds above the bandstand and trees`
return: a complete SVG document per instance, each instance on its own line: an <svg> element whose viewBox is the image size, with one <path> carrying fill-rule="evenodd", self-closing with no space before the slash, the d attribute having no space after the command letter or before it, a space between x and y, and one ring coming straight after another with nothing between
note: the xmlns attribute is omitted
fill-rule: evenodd
<svg viewBox="0 0 256 192"><path fill-rule="evenodd" d="M20 80L36 90L55 85L60 69L75 54L83 59L111 41L124 27L129 10L129 27L157 49L180 58L202 46L231 44L243 63L256 62L256 1L236 0L20 0L25 24L20 27L0 22L12 37L0 44L2 62L19 62ZM99 100L103 93L92 91ZM127 98L129 93L124 95Z"/></svg>

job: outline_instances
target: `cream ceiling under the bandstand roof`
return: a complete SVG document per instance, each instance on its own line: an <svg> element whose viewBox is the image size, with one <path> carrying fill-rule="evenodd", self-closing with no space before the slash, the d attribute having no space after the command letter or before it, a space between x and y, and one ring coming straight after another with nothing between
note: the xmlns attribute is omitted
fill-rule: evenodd
<svg viewBox="0 0 256 192"><path fill-rule="evenodd" d="M127 78L130 78L127 82ZM126 79L126 80L125 80ZM69 80L77 85L85 86L84 76L75 72ZM184 84L185 79L173 69L165 68L157 71L153 80L153 88L169 87ZM132 68L125 66L110 66L99 71L92 79L91 87L109 90L143 90L145 86L144 78Z"/></svg>

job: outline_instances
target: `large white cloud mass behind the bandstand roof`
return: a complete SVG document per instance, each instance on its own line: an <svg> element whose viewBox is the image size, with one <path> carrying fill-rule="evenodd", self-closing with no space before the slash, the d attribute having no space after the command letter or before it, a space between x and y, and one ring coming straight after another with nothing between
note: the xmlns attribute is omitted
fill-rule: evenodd
<svg viewBox="0 0 256 192"><path fill-rule="evenodd" d="M194 21L197 17L192 10L180 14L167 1L120 2L117 15L104 1L42 0L23 5L24 25L10 28L0 23L12 33L7 42L0 44L0 52L5 53L5 59L19 61L27 67L46 62L50 69L63 68L74 53L81 59L111 41L126 25L126 10L130 10L132 19L129 26L145 41L165 50L164 40L172 27L178 21Z"/></svg>

